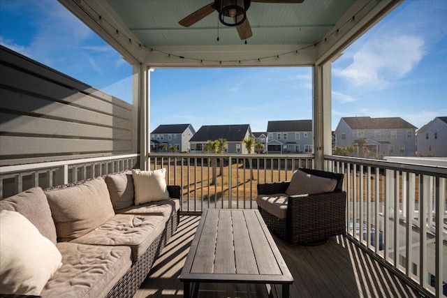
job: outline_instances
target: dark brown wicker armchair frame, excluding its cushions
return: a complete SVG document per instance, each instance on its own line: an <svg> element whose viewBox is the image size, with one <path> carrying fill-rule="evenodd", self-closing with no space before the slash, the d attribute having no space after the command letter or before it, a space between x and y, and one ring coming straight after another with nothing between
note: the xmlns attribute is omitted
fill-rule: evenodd
<svg viewBox="0 0 447 298"><path fill-rule="evenodd" d="M291 244L315 245L328 237L346 232L346 192L342 191L343 174L300 169L307 174L337 179L335 191L310 195L288 196L286 218L277 218L258 207L270 229ZM258 184L258 195L285 193L290 181Z"/></svg>

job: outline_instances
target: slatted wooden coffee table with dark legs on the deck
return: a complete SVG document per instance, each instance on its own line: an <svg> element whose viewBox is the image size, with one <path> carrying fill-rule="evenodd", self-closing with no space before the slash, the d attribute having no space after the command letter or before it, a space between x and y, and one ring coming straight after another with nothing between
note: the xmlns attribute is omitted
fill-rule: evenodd
<svg viewBox="0 0 447 298"><path fill-rule="evenodd" d="M254 209L205 209L180 274L184 297L200 283L282 285L288 297L293 276L263 218Z"/></svg>

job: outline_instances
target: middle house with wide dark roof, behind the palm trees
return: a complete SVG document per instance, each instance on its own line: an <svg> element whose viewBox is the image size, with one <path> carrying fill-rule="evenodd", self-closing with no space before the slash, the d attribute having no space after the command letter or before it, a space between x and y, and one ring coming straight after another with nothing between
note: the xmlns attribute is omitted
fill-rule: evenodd
<svg viewBox="0 0 447 298"><path fill-rule="evenodd" d="M223 138L227 140L226 152L245 154L248 152L242 144L242 140L248 137L253 137L250 124L207 125L200 127L197 133L191 137L189 143L191 144L191 152L202 153L203 146L209 140L214 141Z"/></svg>

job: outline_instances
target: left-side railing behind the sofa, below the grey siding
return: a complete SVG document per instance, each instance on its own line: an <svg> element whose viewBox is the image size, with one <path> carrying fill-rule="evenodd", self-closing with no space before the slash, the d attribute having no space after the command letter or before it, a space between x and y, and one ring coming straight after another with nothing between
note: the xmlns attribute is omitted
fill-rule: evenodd
<svg viewBox="0 0 447 298"><path fill-rule="evenodd" d="M126 154L3 166L0 167L0 198L15 195L34 186L51 188L129 170L135 166L139 156L139 154Z"/></svg>

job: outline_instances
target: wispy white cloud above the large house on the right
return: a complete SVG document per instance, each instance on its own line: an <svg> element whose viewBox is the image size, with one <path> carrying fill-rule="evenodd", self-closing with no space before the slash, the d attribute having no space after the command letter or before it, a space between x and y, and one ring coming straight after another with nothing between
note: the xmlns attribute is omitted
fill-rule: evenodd
<svg viewBox="0 0 447 298"><path fill-rule="evenodd" d="M419 36L372 38L353 54L349 66L335 68L334 74L355 87L385 89L413 70L425 54L424 45Z"/></svg>

